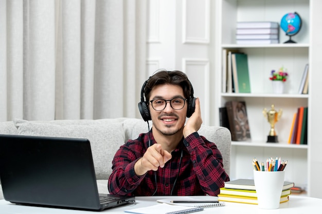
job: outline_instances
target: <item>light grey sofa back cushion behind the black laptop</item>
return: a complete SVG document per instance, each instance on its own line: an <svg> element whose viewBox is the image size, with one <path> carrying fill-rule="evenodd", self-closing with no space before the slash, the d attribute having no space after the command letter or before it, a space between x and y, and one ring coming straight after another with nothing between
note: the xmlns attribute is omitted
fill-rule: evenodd
<svg viewBox="0 0 322 214"><path fill-rule="evenodd" d="M122 124L113 119L46 122L15 119L13 122L21 135L90 140L96 178L102 180L108 179L112 173L114 154L125 141Z"/></svg>

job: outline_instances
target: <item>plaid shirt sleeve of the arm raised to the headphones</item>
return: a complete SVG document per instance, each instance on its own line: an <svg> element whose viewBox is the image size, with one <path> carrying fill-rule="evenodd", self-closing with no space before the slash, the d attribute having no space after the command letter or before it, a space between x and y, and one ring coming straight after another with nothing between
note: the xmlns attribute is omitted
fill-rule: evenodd
<svg viewBox="0 0 322 214"><path fill-rule="evenodd" d="M223 168L223 158L216 144L209 142L198 132L184 139L184 145L191 155L191 162L203 191L217 196L229 176Z"/></svg>

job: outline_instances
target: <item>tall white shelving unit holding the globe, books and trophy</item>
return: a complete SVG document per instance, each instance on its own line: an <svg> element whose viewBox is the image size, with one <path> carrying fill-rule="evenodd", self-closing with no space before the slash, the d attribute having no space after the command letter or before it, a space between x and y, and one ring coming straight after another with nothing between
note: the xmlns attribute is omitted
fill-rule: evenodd
<svg viewBox="0 0 322 214"><path fill-rule="evenodd" d="M321 1L322 2L322 1ZM318 180L315 178L318 172L315 167L320 164L318 157L313 156L313 148L321 148L318 145L321 141L312 133L311 127L318 125L322 118L314 115L321 115L320 110L312 107L316 102L317 93L312 93L319 83L315 77L314 69L318 68L319 61L313 61L313 51L317 53L317 48L313 49L312 40L317 41L317 35L313 36L312 26L321 24L317 21L317 7L322 3L316 0L220 0L216 1L216 44L215 44L215 64L216 64L216 104L218 109L224 106L227 101L245 101L248 121L251 129L251 142L232 142L231 153L231 179L253 178L252 160L265 161L269 157L281 157L288 160L285 168L285 180L295 182L295 185L305 187L308 195L312 197L322 197L321 189L314 190ZM302 20L300 32L292 37L296 44L283 44L288 40L288 36L280 30L280 44L272 45L237 45L235 41L236 22L238 21L273 21L280 23L281 17L288 12L297 12ZM315 16L313 16L315 15ZM320 15L319 15L320 16ZM315 19L313 19L315 17ZM314 24L313 24L314 22ZM317 30L321 33L321 30ZM321 47L321 43L317 44ZM248 55L249 78L251 81L252 93L224 93L221 92L221 70L222 70L222 50L238 49ZM298 94L301 76L305 65L309 63L309 94ZM271 70L278 70L281 66L288 69L289 78L285 83L283 94L272 93L272 83L269 80ZM313 95L312 95L313 94ZM315 96L315 97L314 97ZM262 110L282 109L283 113L275 128L279 143L266 143L269 134L270 124L264 118ZM300 106L309 107L308 115L308 145L288 144L293 115ZM218 115L218 114L217 114ZM219 118L219 116L217 117ZM218 122L219 123L219 122ZM320 150L321 152L321 150ZM320 167L319 167L320 168ZM321 172L321 171L320 171Z"/></svg>

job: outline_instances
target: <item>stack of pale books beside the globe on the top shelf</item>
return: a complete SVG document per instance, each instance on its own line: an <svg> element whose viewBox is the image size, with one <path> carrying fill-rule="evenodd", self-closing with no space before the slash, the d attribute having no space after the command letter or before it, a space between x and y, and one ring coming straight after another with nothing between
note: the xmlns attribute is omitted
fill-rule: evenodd
<svg viewBox="0 0 322 214"><path fill-rule="evenodd" d="M279 24L277 22L238 22L237 44L277 44Z"/></svg>

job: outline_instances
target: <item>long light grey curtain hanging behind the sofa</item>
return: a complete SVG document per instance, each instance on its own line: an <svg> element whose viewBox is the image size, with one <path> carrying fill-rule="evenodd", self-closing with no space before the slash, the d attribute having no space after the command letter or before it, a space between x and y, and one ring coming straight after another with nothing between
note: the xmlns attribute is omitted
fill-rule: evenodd
<svg viewBox="0 0 322 214"><path fill-rule="evenodd" d="M146 0L0 0L0 121L139 116Z"/></svg>

